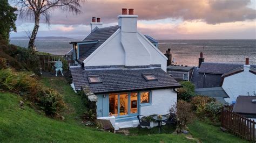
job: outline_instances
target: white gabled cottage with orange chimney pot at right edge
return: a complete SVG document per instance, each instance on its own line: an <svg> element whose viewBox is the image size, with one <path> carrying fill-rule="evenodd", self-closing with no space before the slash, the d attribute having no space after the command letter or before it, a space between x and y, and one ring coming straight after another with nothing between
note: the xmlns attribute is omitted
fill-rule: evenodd
<svg viewBox="0 0 256 143"><path fill-rule="evenodd" d="M256 96L256 69L249 65L249 58L246 58L244 66L233 69L221 77L221 87L229 96L225 98L226 102L235 103L239 95Z"/></svg>

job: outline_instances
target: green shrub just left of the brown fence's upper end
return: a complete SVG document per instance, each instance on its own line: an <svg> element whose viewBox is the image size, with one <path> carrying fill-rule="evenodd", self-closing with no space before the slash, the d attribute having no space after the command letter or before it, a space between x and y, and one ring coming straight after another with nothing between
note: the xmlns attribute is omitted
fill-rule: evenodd
<svg viewBox="0 0 256 143"><path fill-rule="evenodd" d="M223 104L212 101L210 103L207 103L205 108L208 116L212 121L216 122L220 120L220 113L221 109L223 108Z"/></svg>

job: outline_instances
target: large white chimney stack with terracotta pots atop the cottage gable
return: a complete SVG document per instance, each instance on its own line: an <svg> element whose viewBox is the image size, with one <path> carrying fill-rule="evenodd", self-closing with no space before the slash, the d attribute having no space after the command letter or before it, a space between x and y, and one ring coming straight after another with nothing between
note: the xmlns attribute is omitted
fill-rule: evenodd
<svg viewBox="0 0 256 143"><path fill-rule="evenodd" d="M122 15L118 16L118 26L121 27L122 32L137 32L137 15L133 15L133 9L122 9Z"/></svg>

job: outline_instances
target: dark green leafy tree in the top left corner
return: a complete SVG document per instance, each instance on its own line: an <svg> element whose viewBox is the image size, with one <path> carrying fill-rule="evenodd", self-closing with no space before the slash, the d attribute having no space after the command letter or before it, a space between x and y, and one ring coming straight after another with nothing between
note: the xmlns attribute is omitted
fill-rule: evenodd
<svg viewBox="0 0 256 143"><path fill-rule="evenodd" d="M9 5L8 0L0 2L0 34L6 43L9 41L9 33L11 31L16 32L16 10L16 8L12 8L12 6Z"/></svg>

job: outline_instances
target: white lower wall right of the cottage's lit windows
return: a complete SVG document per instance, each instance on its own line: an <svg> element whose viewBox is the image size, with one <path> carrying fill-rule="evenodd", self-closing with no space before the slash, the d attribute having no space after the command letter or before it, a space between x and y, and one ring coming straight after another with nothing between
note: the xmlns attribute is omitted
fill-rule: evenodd
<svg viewBox="0 0 256 143"><path fill-rule="evenodd" d="M140 106L140 115L166 115L169 109L177 102L177 92L173 89L152 90L152 104Z"/></svg>

